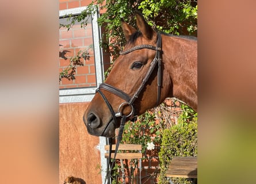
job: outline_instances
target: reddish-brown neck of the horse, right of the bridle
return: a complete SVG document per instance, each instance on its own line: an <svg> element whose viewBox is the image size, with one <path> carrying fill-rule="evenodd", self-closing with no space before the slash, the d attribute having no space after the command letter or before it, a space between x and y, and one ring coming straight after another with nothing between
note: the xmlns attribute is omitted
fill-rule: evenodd
<svg viewBox="0 0 256 184"><path fill-rule="evenodd" d="M197 41L162 35L164 75L169 76L169 97L197 110Z"/></svg>

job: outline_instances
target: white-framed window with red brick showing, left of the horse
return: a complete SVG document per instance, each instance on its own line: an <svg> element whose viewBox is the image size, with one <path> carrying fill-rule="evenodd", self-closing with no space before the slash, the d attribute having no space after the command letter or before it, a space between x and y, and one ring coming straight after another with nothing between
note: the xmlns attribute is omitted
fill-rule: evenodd
<svg viewBox="0 0 256 184"><path fill-rule="evenodd" d="M66 23L67 19L62 18L66 14L79 14L85 7L60 10L60 23ZM86 102L91 101L95 89L103 82L102 58L100 48L100 29L97 24L98 14L88 17L88 24L85 28L75 24L67 31L67 28L59 29L60 44L60 72L70 64L70 58L80 51L86 52L84 59L81 59L83 66L78 66L75 71L75 79L63 78L59 85L60 103Z"/></svg>

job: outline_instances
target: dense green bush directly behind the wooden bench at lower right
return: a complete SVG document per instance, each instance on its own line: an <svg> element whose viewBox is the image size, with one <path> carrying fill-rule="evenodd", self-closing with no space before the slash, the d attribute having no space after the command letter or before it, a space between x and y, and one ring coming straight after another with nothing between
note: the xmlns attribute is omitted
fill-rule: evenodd
<svg viewBox="0 0 256 184"><path fill-rule="evenodd" d="M197 113L186 105L182 105L181 108L184 111L179 116L178 124L163 131L159 152L161 167L159 183L169 183L166 171L174 156L197 156ZM191 183L184 178L171 178L171 180L173 183Z"/></svg>

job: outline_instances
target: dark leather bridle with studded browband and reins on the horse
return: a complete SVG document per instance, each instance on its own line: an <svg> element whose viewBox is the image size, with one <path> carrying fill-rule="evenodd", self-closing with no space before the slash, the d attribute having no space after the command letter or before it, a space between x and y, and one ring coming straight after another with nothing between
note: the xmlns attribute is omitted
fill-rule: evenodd
<svg viewBox="0 0 256 184"><path fill-rule="evenodd" d="M123 51L120 52L120 55L126 55L127 53L130 53L132 51L136 51L137 49L152 49L155 50L155 58L152 60L150 67L148 68L148 71L146 73L146 75L144 76L142 83L140 84L139 88L137 89L137 91L133 94L132 97L130 97L128 94L124 93L124 91L121 91L120 89L117 89L114 86L111 86L107 83L101 83L101 85L98 87L98 89L96 90L96 93L99 93L102 97L102 99L104 99L106 105L108 106L111 115L113 117L114 120L114 124L115 127L117 126L117 117L122 117L121 118L121 124L120 124L120 129L119 129L119 135L117 136L117 143L116 143L116 150L114 152L114 159L116 158L116 154L117 154L117 150L120 144L120 141L122 139L122 134L124 131L124 124L125 124L125 120L128 117L133 118L134 116L136 116L135 114L135 109L133 108L133 103L135 102L135 100L139 97L140 92L143 90L144 86L146 85L146 82L148 81L148 79L150 78L152 72L154 71L155 66L158 64L158 73L157 73L157 77L158 77L158 96L156 99L156 106L159 105L160 102L160 98L161 98L161 87L162 87L162 74L161 74L161 63L162 63L162 37L160 33L157 33L157 41L156 41L156 47L152 46L152 45L137 45L135 47L132 47L131 49L128 49L127 51ZM118 108L118 112L114 112L112 106L110 105L108 99L106 98L106 96L104 95L104 93L102 93L101 90L105 90L108 91L114 95L117 95L118 97L124 99L125 102L121 103L119 105ZM128 105L131 107L131 113L129 113L128 115L123 114L120 110L123 106ZM110 123L110 122L109 122ZM108 125L106 125L106 128L108 127ZM106 129L105 128L105 129ZM105 132L105 130L104 130ZM104 132L102 132L102 135L104 134ZM111 149L112 149L112 138L109 139L109 144L110 144L110 150L109 150L109 160L111 158ZM114 162L113 162L114 163ZM113 167L113 164L112 164ZM112 168L111 167L111 168ZM109 162L108 162L108 168L109 168ZM110 168L110 171L111 171ZM109 171L108 171L109 173ZM109 175L108 175L108 179L110 179ZM105 180L106 182L106 180Z"/></svg>

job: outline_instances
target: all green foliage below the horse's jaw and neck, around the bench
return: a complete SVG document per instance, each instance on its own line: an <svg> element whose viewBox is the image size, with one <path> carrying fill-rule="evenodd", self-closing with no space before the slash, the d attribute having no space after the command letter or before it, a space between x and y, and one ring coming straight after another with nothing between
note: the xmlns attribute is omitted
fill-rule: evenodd
<svg viewBox="0 0 256 184"><path fill-rule="evenodd" d="M197 155L197 113L185 104L181 104L180 107L182 112L179 114L178 124L172 125L170 129L165 129L165 120L156 122L155 113L151 111L139 116L136 122L125 124L122 143L142 144L143 153L147 151L147 143L152 141L158 145L158 149L150 154L159 156L161 163L159 183L169 183L165 175L173 156ZM146 154L144 158L148 159ZM174 183L190 183L184 178L171 179Z"/></svg>

